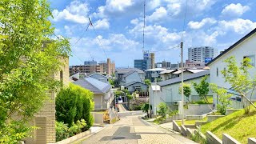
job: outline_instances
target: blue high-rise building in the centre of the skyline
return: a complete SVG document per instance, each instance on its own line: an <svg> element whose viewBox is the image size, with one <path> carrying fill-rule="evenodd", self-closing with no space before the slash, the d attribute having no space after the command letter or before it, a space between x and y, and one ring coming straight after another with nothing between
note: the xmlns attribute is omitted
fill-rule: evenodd
<svg viewBox="0 0 256 144"><path fill-rule="evenodd" d="M138 68L139 70L153 69L154 53L150 53L148 50L143 51L143 59L135 59L134 68Z"/></svg>

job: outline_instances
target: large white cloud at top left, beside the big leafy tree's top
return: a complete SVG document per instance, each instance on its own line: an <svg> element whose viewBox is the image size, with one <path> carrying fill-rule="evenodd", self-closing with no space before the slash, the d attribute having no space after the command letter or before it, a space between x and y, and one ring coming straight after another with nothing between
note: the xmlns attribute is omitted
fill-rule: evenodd
<svg viewBox="0 0 256 144"><path fill-rule="evenodd" d="M73 1L64 10L53 10L53 21L58 22L65 19L66 21L84 24L88 22L86 18L88 12L89 8L86 3Z"/></svg>

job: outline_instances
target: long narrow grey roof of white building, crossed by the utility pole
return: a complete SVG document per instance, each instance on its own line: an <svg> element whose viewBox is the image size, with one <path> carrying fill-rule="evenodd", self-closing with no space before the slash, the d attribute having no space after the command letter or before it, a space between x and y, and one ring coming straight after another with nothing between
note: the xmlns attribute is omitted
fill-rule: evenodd
<svg viewBox="0 0 256 144"><path fill-rule="evenodd" d="M189 75L184 77L184 81L188 81L188 80L194 79L194 78L200 78L200 77L203 77L203 76L209 75L209 74L210 74L210 70L205 70L205 71L198 72L198 73L195 73L195 74L189 74ZM158 82L158 85L159 86L167 86L167 85L171 85L171 84L174 84L174 83L177 83L177 82L182 82L182 78L181 77L171 78L171 79L168 79L166 81Z"/></svg>

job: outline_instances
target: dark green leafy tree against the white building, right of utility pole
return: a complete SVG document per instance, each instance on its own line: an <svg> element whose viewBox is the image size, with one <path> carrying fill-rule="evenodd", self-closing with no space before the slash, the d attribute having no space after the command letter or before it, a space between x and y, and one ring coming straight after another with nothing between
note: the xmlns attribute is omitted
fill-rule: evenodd
<svg viewBox="0 0 256 144"><path fill-rule="evenodd" d="M194 90L198 93L201 99L204 99L205 102L208 102L206 94L209 93L209 82L206 82L208 76L205 76L201 79L199 83L193 82Z"/></svg>

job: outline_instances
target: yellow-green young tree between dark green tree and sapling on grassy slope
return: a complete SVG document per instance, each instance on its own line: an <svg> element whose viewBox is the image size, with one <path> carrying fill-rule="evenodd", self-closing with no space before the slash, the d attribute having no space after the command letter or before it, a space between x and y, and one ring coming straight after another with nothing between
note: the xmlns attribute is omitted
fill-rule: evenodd
<svg viewBox="0 0 256 144"><path fill-rule="evenodd" d="M230 101L230 97L232 96L232 94L228 94L226 89L224 88L218 88L217 85L215 84L210 84L210 89L218 95L218 102L220 102L217 105L217 109L218 111L225 115L226 114L226 109L227 107L230 105L231 101Z"/></svg>

